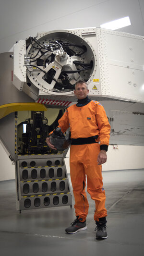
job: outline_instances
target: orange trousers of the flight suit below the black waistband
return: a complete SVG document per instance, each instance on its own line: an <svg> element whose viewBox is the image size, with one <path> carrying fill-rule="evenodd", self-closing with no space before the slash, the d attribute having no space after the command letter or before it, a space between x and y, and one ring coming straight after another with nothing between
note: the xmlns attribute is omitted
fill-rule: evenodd
<svg viewBox="0 0 144 256"><path fill-rule="evenodd" d="M105 208L106 195L102 182L102 168L97 165L99 144L72 145L70 151L70 169L73 195L75 199L75 215L86 219L88 201L85 193L85 174L87 175L87 191L95 200L94 219L107 216Z"/></svg>

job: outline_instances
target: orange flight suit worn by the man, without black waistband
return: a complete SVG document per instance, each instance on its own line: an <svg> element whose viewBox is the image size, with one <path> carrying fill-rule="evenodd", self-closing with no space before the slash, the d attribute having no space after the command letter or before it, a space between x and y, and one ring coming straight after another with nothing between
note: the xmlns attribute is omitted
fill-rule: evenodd
<svg viewBox="0 0 144 256"><path fill-rule="evenodd" d="M100 149L108 148L110 125L103 106L94 100L87 105L69 107L59 120L59 126L64 133L69 127L71 138L88 138L98 135L93 144L71 145L70 170L75 198L75 215L85 221L88 214L88 201L85 193L85 175L87 175L87 191L95 200L94 219L107 216L105 208L105 190L102 181L102 166L97 164ZM107 150L107 149L106 149Z"/></svg>

